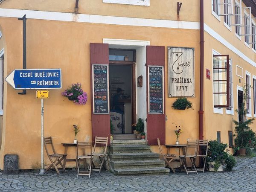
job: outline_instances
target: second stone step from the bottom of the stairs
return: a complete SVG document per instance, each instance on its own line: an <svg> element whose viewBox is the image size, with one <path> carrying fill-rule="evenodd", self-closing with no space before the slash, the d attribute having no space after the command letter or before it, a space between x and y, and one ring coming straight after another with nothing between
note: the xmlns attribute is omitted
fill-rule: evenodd
<svg viewBox="0 0 256 192"><path fill-rule="evenodd" d="M165 162L161 160L144 160L144 161L110 161L111 167L115 169L140 169L140 168L160 168L164 167Z"/></svg>

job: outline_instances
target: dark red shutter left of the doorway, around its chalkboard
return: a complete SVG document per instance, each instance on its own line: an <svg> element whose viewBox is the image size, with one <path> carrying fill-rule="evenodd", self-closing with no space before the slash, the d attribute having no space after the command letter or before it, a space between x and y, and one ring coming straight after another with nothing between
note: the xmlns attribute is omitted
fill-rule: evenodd
<svg viewBox="0 0 256 192"><path fill-rule="evenodd" d="M109 64L108 44L90 44L90 68L91 68L91 90L92 90L92 64ZM93 91L92 91L93 94ZM93 95L91 95L93 98ZM93 102L93 99L91 99ZM109 114L93 114L92 105L92 137L93 143L95 136L108 137L110 144L110 115Z"/></svg>

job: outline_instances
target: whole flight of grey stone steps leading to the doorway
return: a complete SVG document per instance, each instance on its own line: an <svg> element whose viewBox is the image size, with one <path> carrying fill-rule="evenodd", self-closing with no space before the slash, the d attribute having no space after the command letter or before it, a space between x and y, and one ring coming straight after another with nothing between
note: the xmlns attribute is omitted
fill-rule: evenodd
<svg viewBox="0 0 256 192"><path fill-rule="evenodd" d="M151 152L150 146L143 140L131 142L118 140L115 145L111 143L108 154L111 172L115 175L169 175L165 162L159 159L159 154Z"/></svg>

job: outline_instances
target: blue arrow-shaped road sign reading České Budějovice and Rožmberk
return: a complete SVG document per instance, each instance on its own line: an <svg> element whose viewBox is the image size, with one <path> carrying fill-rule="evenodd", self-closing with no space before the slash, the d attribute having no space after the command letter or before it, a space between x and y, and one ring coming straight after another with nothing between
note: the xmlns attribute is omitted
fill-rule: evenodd
<svg viewBox="0 0 256 192"><path fill-rule="evenodd" d="M61 69L13 70L5 80L15 89L61 89Z"/></svg>

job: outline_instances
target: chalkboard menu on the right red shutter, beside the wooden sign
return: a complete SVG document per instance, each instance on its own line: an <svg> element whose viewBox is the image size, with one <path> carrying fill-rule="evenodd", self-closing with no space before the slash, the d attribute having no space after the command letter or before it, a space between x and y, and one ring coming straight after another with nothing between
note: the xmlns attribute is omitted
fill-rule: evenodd
<svg viewBox="0 0 256 192"><path fill-rule="evenodd" d="M163 113L163 67L148 67L148 113Z"/></svg>

